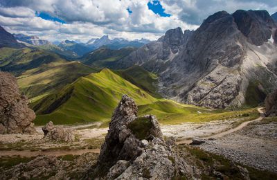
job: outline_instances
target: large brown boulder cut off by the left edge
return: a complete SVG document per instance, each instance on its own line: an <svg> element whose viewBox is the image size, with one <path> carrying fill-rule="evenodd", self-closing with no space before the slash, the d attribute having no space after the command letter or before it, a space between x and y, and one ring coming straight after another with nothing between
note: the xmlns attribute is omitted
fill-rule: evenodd
<svg viewBox="0 0 277 180"><path fill-rule="evenodd" d="M17 79L0 72L0 134L35 133L35 112L28 107L28 98L19 92Z"/></svg>

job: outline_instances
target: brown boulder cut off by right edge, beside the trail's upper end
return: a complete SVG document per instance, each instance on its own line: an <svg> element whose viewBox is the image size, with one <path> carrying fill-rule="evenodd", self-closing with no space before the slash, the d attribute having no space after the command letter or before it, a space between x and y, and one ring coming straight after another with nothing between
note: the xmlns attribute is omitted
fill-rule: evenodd
<svg viewBox="0 0 277 180"><path fill-rule="evenodd" d="M265 98L265 115L277 116L277 89Z"/></svg>

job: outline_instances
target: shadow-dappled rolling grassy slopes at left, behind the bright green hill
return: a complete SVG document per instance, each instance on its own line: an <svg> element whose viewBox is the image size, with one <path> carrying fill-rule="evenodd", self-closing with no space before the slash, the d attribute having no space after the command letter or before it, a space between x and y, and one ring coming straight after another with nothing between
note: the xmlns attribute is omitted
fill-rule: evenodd
<svg viewBox="0 0 277 180"><path fill-rule="evenodd" d="M0 68L1 71L13 73L21 91L32 100L98 71L79 62L68 62L59 55L31 48L0 48Z"/></svg>

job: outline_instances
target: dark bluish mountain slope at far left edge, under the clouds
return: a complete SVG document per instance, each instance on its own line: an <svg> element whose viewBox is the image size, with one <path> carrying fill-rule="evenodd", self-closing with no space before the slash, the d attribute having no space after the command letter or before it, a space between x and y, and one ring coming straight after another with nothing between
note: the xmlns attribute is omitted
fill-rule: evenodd
<svg viewBox="0 0 277 180"><path fill-rule="evenodd" d="M24 44L17 42L15 37L8 33L3 27L0 26L0 48L10 47L10 48L22 48Z"/></svg>

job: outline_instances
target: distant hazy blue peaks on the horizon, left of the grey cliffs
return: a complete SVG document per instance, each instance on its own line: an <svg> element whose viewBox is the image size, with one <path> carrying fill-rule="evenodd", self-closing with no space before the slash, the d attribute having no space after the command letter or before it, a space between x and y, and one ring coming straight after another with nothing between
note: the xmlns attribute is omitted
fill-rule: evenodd
<svg viewBox="0 0 277 180"><path fill-rule="evenodd" d="M108 35L104 35L100 38L93 38L90 39L85 45L90 47L90 48L100 48L101 46L107 46L111 49L120 49L120 48L125 48L125 47L141 47L144 44L148 44L150 40L148 39L135 39L133 41L129 41L127 39L123 38L114 38L114 39L109 39Z"/></svg>

